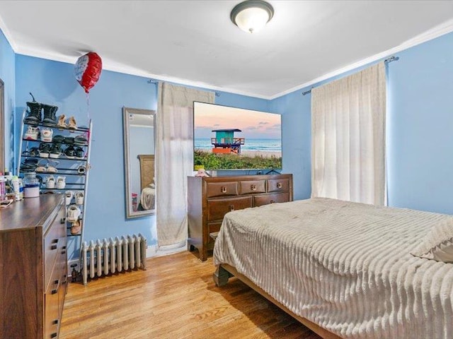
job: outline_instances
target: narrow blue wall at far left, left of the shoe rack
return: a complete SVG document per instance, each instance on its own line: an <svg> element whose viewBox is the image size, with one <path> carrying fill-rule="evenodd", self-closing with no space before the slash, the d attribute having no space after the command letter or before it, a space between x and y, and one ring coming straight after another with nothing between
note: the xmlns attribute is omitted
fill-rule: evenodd
<svg viewBox="0 0 453 339"><path fill-rule="evenodd" d="M14 105L16 104L16 58L8 40L0 30L0 78L4 82L4 140L0 147L5 150L5 167L12 170L14 138ZM0 169L4 172L4 168Z"/></svg>

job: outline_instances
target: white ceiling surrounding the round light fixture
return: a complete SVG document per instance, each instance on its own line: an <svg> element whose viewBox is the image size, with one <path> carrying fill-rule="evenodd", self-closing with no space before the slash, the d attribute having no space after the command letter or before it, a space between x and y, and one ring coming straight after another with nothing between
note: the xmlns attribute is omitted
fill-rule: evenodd
<svg viewBox="0 0 453 339"><path fill-rule="evenodd" d="M255 35L229 18L240 0L0 1L16 53L273 98L453 30L453 1L268 0Z"/></svg>

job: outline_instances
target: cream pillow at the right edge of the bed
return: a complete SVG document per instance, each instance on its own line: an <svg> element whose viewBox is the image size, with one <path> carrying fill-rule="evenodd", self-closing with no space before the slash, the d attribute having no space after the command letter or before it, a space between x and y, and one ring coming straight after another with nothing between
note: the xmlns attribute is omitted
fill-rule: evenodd
<svg viewBox="0 0 453 339"><path fill-rule="evenodd" d="M453 218L432 227L411 254L420 258L453 263Z"/></svg>

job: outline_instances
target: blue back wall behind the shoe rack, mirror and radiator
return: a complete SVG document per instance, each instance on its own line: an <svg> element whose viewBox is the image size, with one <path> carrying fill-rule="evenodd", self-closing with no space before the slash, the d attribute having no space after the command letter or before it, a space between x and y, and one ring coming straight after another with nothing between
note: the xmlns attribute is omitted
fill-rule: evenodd
<svg viewBox="0 0 453 339"><path fill-rule="evenodd" d="M90 90L89 112L93 141L85 239L103 239L142 233L148 244L156 244L156 218L125 218L125 175L122 148L122 107L156 109L156 85L147 78L103 71ZM16 141L20 138L22 112L33 93L38 102L57 105L59 114L74 115L87 124L88 106L84 90L74 78L74 65L16 55ZM220 93L220 105L268 110L268 100Z"/></svg>

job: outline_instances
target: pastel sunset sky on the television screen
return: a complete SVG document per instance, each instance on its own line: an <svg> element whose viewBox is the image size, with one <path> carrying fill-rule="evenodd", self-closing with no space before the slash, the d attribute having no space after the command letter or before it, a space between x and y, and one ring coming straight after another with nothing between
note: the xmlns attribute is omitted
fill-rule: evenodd
<svg viewBox="0 0 453 339"><path fill-rule="evenodd" d="M275 113L195 102L195 138L212 138L213 129L240 129L235 137L280 139L281 116Z"/></svg>

